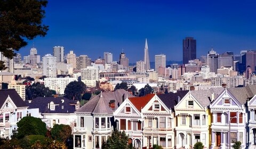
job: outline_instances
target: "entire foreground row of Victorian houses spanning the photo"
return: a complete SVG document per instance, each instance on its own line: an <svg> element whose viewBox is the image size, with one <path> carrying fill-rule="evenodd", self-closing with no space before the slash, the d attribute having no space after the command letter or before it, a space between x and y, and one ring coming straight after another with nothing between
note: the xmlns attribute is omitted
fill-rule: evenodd
<svg viewBox="0 0 256 149"><path fill-rule="evenodd" d="M256 85L180 90L134 97L123 89L92 96L82 107L64 97L23 101L14 89L0 90L0 135L9 137L26 116L73 128L74 148L101 148L114 129L135 148L256 147Z"/></svg>

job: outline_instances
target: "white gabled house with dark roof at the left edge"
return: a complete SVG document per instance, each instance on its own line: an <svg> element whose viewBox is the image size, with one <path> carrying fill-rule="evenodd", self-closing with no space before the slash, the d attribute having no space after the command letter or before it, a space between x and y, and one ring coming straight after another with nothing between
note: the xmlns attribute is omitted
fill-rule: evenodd
<svg viewBox="0 0 256 149"><path fill-rule="evenodd" d="M27 116L28 106L15 89L0 89L0 135L11 138L17 122Z"/></svg>

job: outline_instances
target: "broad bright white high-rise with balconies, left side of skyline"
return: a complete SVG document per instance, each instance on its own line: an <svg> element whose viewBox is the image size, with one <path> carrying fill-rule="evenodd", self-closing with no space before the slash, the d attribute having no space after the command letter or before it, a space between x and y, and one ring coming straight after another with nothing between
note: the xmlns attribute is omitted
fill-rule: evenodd
<svg viewBox="0 0 256 149"><path fill-rule="evenodd" d="M47 78L57 77L57 57L51 54L46 54L42 58L42 72L43 76Z"/></svg>

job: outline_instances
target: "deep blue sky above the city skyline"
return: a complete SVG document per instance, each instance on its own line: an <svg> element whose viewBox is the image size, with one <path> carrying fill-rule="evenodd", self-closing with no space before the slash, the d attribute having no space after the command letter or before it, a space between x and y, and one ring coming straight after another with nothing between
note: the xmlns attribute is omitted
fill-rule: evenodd
<svg viewBox="0 0 256 149"><path fill-rule="evenodd" d="M64 46L77 56L92 60L124 53L133 63L143 60L145 39L150 61L166 54L166 60L182 60L182 39L197 40L197 57L214 51L256 49L256 1L49 1L44 24L45 37L37 37L20 49L29 54L33 42L39 55L52 54L53 46Z"/></svg>

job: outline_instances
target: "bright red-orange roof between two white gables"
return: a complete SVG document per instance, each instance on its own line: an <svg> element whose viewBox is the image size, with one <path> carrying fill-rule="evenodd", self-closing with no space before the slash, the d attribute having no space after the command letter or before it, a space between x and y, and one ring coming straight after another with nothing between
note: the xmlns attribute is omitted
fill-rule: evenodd
<svg viewBox="0 0 256 149"><path fill-rule="evenodd" d="M143 97L130 97L129 100L140 111L154 96L155 94L147 94Z"/></svg>

